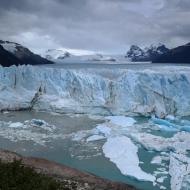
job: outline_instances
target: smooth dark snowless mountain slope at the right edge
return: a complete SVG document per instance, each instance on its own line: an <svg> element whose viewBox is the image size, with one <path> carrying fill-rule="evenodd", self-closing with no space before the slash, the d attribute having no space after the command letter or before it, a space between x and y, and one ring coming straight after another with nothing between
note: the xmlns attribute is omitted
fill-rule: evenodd
<svg viewBox="0 0 190 190"><path fill-rule="evenodd" d="M155 63L190 63L190 43L171 49L153 59Z"/></svg>

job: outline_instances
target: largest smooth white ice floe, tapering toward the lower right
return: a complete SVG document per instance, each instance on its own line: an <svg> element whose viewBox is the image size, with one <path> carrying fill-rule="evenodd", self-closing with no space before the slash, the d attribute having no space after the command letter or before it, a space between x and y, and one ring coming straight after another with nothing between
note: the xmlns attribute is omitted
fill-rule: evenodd
<svg viewBox="0 0 190 190"><path fill-rule="evenodd" d="M117 165L121 173L142 181L155 181L155 177L139 167L138 147L125 136L108 138L103 145L103 152Z"/></svg>

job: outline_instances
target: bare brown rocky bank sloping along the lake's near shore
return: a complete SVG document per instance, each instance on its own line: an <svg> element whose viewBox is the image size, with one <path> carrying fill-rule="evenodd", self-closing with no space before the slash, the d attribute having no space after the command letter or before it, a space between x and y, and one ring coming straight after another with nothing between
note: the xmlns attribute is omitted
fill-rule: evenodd
<svg viewBox="0 0 190 190"><path fill-rule="evenodd" d="M5 150L0 150L0 159L4 162L13 162L15 159L22 160L22 163L25 166L32 167L37 172L46 174L60 181L74 182L77 186L76 189L78 190L135 190L135 188L129 185L101 179L92 174L83 173L76 169L55 162L50 162L45 159L22 157Z"/></svg>

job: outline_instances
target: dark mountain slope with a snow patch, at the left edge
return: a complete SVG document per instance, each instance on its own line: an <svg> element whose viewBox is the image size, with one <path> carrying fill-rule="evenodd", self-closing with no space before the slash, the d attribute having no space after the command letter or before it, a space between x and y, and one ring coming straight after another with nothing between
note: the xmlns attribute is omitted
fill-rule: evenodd
<svg viewBox="0 0 190 190"><path fill-rule="evenodd" d="M53 62L32 53L20 44L0 40L0 65L41 65Z"/></svg>

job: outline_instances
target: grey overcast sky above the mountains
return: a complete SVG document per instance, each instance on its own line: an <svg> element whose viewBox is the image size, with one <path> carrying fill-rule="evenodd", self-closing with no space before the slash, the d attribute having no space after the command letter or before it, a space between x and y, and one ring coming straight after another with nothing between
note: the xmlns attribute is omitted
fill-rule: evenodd
<svg viewBox="0 0 190 190"><path fill-rule="evenodd" d="M190 0L0 0L0 36L35 52L190 42Z"/></svg>

